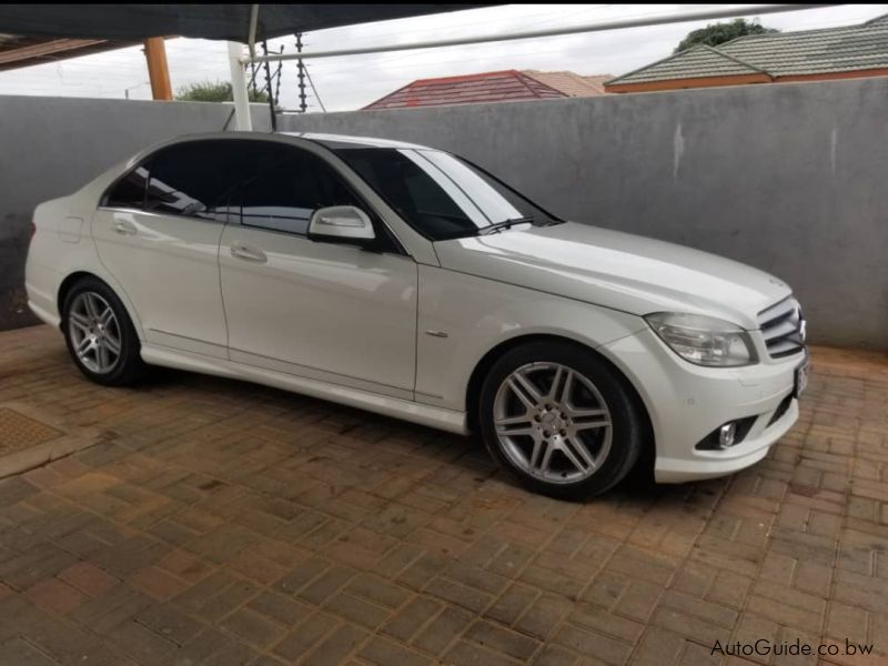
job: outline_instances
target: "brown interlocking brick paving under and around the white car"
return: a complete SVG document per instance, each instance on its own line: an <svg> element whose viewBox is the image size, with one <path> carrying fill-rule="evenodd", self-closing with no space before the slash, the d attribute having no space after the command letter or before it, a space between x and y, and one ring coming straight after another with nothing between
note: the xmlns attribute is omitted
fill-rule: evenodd
<svg viewBox="0 0 888 666"><path fill-rule="evenodd" d="M0 481L0 664L888 663L888 362L815 350L798 425L731 477L584 504L474 441L245 383L88 383L0 334L0 403L107 441Z"/></svg>

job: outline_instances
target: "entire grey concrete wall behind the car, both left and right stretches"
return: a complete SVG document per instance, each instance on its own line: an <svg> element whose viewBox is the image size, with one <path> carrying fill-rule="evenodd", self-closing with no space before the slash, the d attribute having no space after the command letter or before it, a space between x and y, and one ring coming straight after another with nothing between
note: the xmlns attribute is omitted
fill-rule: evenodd
<svg viewBox="0 0 888 666"><path fill-rule="evenodd" d="M0 97L0 329L31 321L28 222L145 144L221 130L230 107ZM264 108L254 108L268 129ZM407 111L285 115L283 129L418 141L554 212L759 266L816 342L888 349L888 78Z"/></svg>

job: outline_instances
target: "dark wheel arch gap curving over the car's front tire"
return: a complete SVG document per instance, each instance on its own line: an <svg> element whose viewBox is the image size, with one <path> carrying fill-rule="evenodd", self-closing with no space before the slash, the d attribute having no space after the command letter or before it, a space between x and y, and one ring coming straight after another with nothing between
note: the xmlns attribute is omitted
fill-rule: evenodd
<svg viewBox="0 0 888 666"><path fill-rule="evenodd" d="M614 375L619 377L619 380L624 383L625 387L627 389L627 393L635 402L636 406L638 407L638 413L642 414L644 418L644 427L646 431L645 441L648 443L645 446L645 451L642 454L642 460L639 460L639 464L650 464L653 465L653 456L656 452L656 441L654 436L654 426L650 421L650 414L647 410L647 405L645 401L642 398L640 392L636 389L635 384L632 382L629 377L605 354L594 350L593 347L583 344L576 340L571 337L566 337L564 335L557 334L549 334L549 333L532 333L527 335L518 335L516 337L509 337L505 340L484 354L481 360L475 365L472 374L468 379L468 385L466 387L466 397L465 397L465 410L466 410L466 422L468 425L468 430L473 433L478 432L478 410L480 410L480 402L481 402L481 387L484 384L484 380L487 376L487 373L493 367L493 364L496 363L500 359L503 357L509 351L522 346L524 344L529 344L533 342L558 342L563 344L568 344L571 346L577 347L582 350L584 353L592 354L603 361L607 366L609 366L614 371ZM649 460L647 460L649 458Z"/></svg>

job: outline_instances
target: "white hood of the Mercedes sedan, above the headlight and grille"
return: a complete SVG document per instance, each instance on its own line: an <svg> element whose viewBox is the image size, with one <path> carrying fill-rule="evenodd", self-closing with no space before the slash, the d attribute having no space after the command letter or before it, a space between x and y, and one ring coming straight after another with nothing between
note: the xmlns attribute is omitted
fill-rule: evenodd
<svg viewBox="0 0 888 666"><path fill-rule="evenodd" d="M435 243L441 265L633 314L690 312L757 329L785 299L776 278L729 259L565 222Z"/></svg>

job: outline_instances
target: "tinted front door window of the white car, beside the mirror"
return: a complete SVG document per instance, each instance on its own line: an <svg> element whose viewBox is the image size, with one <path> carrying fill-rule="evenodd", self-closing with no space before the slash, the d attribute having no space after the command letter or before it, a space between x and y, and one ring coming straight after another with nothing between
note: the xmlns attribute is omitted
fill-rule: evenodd
<svg viewBox="0 0 888 666"><path fill-rule="evenodd" d="M349 186L321 158L287 147L275 148L274 159L258 164L254 174L241 188L241 224L305 235L312 213L317 209L361 206Z"/></svg>

